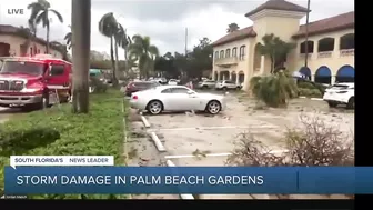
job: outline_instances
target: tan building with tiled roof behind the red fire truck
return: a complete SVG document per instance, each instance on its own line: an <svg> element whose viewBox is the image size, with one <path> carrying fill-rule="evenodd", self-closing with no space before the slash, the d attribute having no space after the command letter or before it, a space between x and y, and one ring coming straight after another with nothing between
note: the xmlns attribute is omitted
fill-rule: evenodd
<svg viewBox="0 0 373 210"><path fill-rule="evenodd" d="M32 41L30 41L27 44L27 49L24 49L28 40ZM20 28L0 24L0 57L21 57L46 53L46 40L40 38L28 39L27 36L21 32ZM22 53L22 51L26 53ZM60 59L63 58L61 49L53 44L50 44L49 53Z"/></svg>

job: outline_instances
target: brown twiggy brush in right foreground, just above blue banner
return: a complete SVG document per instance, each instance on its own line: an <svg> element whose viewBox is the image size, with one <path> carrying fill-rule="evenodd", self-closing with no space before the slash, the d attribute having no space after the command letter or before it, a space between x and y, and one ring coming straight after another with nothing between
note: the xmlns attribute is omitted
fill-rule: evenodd
<svg viewBox="0 0 373 210"><path fill-rule="evenodd" d="M319 118L301 116L300 122L300 128L286 130L283 153L274 154L251 133L242 133L226 163L230 166L354 166L353 136L326 126Z"/></svg>

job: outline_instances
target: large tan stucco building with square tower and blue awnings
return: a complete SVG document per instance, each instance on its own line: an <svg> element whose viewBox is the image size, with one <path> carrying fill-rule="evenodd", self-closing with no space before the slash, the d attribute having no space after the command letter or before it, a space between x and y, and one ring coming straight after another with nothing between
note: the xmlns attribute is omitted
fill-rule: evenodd
<svg viewBox="0 0 373 210"><path fill-rule="evenodd" d="M308 67L305 64L305 27L300 20L306 8L269 0L245 14L253 26L228 33L213 42L213 79L230 79L249 88L254 76L269 74L271 61L255 47L265 34L296 43L286 57L285 68L300 71L321 83L354 81L354 12L310 22L308 27Z"/></svg>

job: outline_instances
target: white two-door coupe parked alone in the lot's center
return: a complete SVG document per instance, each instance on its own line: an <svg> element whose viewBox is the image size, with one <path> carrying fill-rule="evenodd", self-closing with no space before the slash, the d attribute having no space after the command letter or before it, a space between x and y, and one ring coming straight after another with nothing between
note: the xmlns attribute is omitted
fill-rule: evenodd
<svg viewBox="0 0 373 210"><path fill-rule="evenodd" d="M225 109L223 96L199 93L184 86L160 86L132 93L130 104L139 110L148 110L152 114L189 110L216 114Z"/></svg>

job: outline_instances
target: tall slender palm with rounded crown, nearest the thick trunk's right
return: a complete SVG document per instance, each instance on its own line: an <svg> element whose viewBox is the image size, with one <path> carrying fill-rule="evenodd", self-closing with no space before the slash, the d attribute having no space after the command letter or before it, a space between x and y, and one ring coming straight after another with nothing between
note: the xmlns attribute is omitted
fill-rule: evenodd
<svg viewBox="0 0 373 210"><path fill-rule="evenodd" d="M111 66L113 72L113 86L118 84L117 80L117 63L114 60L114 36L118 33L118 21L113 14L113 12L105 13L100 22L99 22L99 31L110 39L110 57L111 57ZM117 47L117 46L115 46Z"/></svg>

